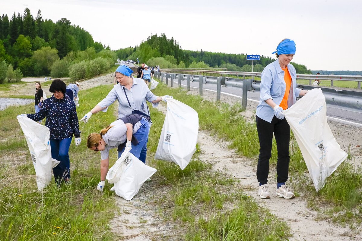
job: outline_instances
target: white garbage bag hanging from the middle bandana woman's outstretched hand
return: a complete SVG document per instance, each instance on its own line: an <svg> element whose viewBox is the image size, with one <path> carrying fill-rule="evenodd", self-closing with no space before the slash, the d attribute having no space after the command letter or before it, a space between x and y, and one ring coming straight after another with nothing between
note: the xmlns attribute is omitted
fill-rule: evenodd
<svg viewBox="0 0 362 241"><path fill-rule="evenodd" d="M188 105L167 99L167 113L155 159L174 162L183 170L196 151L198 113Z"/></svg>

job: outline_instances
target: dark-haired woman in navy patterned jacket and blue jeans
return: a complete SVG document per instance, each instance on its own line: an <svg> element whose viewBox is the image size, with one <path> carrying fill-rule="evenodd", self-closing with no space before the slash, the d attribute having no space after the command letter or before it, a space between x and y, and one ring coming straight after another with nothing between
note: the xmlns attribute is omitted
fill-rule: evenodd
<svg viewBox="0 0 362 241"><path fill-rule="evenodd" d="M74 101L66 95L67 85L60 79L54 79L49 87L53 96L44 100L43 106L36 114L26 115L34 121L46 117L45 126L50 132L51 157L60 161L53 168L56 184L62 181L70 184L69 147L74 135L75 145L81 142L77 112Z"/></svg>

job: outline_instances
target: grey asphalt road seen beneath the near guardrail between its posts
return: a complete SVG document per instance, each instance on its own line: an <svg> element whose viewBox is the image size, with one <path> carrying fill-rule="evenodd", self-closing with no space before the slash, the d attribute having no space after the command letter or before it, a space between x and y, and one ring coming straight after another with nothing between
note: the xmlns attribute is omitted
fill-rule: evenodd
<svg viewBox="0 0 362 241"><path fill-rule="evenodd" d="M171 81L171 79L169 79ZM187 80L181 81L182 85L187 86ZM176 81L174 80L174 86L178 85L178 79ZM191 82L191 87L199 88L199 82ZM210 90L210 91L216 91L216 85L215 84L203 84L203 90ZM230 94L233 96L238 96L241 98L242 95L242 89L236 88L236 87L221 87L221 92L223 94ZM259 102L260 94L259 92L251 92L248 91L248 101L255 102L256 104ZM344 124L349 124L353 126L362 126L362 114L358 112L353 111L346 111L344 109L338 109L334 106L327 105L327 117L331 120L338 121Z"/></svg>

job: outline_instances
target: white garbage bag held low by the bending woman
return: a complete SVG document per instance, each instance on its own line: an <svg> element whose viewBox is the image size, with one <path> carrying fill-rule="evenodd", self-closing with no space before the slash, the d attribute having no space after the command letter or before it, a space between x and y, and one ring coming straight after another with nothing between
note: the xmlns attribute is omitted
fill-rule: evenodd
<svg viewBox="0 0 362 241"><path fill-rule="evenodd" d="M138 193L143 182L156 171L155 168L144 164L129 151L124 151L109 169L106 179L109 183L114 183L115 194L129 201Z"/></svg>

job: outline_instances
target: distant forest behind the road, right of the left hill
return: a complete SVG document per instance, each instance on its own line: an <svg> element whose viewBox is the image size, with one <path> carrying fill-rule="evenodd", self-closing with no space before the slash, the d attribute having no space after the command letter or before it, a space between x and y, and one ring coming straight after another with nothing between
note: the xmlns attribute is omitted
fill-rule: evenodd
<svg viewBox="0 0 362 241"><path fill-rule="evenodd" d="M116 51L120 59L136 59L149 65L160 65L162 68L227 68L229 71L252 71L251 61L246 60L246 54L215 53L207 51L182 50L173 37L168 39L151 35L138 47L123 48ZM264 67L275 59L260 56L254 60L254 72L261 72ZM159 63L157 63L159 62ZM305 65L292 63L299 74L311 74Z"/></svg>

